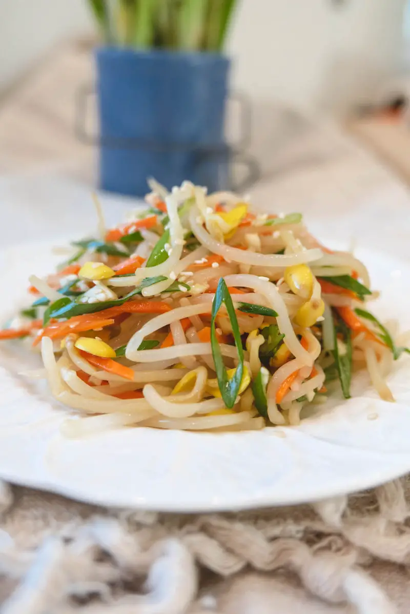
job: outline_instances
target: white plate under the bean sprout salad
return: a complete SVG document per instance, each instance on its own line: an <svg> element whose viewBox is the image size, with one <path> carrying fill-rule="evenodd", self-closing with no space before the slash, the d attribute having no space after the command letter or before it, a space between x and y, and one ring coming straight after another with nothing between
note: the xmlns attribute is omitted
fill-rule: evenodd
<svg viewBox="0 0 410 614"><path fill-rule="evenodd" d="M410 328L410 266L358 252L384 318ZM0 318L25 298L28 274L52 270L49 246L0 252ZM68 440L69 410L18 371L39 365L21 342L0 346L0 477L104 505L164 511L212 511L307 502L357 491L410 470L410 359L389 378L397 402L385 403L363 376L358 396L335 398L300 427L249 433L118 429ZM377 418L374 419L377 414Z"/></svg>

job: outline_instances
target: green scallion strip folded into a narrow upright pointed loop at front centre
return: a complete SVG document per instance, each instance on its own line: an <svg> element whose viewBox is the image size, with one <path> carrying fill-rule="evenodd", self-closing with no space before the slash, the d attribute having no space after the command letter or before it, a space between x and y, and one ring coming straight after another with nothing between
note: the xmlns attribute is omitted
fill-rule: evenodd
<svg viewBox="0 0 410 614"><path fill-rule="evenodd" d="M226 373L226 368L223 363L222 353L215 330L215 318L222 303L225 303L226 311L228 312L233 332L233 338L235 341L236 349L238 350L239 358L238 367L236 367L235 373L231 379L228 379L228 374ZM242 375L244 371L244 351L242 349L241 333L239 332L238 320L236 319L235 309L233 306L231 295L223 278L220 278L219 280L217 291L215 292L215 297L212 301L211 347L219 390L226 407L231 409L235 404L236 397L238 396L239 387L241 386Z"/></svg>

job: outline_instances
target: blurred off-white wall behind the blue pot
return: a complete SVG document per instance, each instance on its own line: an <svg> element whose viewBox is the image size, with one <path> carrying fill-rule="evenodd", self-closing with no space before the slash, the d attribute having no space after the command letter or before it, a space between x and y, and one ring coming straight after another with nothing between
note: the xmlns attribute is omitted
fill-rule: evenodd
<svg viewBox="0 0 410 614"><path fill-rule="evenodd" d="M401 67L406 0L242 0L228 52L234 85L343 111ZM90 31L86 0L0 0L0 90L56 42Z"/></svg>

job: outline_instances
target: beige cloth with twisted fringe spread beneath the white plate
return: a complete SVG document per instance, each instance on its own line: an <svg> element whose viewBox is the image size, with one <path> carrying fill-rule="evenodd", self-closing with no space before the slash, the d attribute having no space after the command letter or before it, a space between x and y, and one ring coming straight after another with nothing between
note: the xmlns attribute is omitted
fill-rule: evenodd
<svg viewBox="0 0 410 614"><path fill-rule="evenodd" d="M95 152L74 134L75 95L91 79L90 56L69 45L10 93L0 173L92 179ZM254 134L262 204L410 202L365 152L298 114L260 105ZM314 506L157 515L0 483L1 614L408 614L409 500L396 481Z"/></svg>

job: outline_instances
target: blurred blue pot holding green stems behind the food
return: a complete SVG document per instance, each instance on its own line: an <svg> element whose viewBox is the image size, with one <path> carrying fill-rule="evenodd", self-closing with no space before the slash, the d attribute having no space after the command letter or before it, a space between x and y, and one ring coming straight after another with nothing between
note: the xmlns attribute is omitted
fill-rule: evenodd
<svg viewBox="0 0 410 614"><path fill-rule="evenodd" d="M227 58L103 48L96 63L101 188L142 196L150 176L226 187Z"/></svg>

